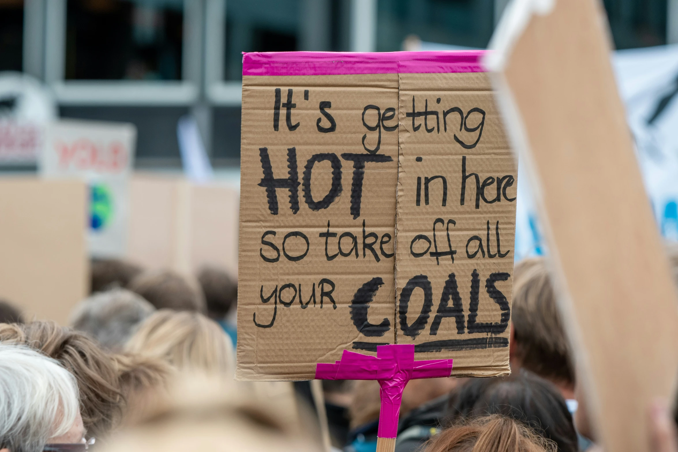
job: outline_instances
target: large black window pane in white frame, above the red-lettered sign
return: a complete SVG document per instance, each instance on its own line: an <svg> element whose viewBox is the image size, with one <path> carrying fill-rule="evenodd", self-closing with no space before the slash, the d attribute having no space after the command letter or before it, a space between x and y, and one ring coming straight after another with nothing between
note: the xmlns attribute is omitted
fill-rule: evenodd
<svg viewBox="0 0 678 452"><path fill-rule="evenodd" d="M179 80L182 0L68 0L66 79Z"/></svg>

